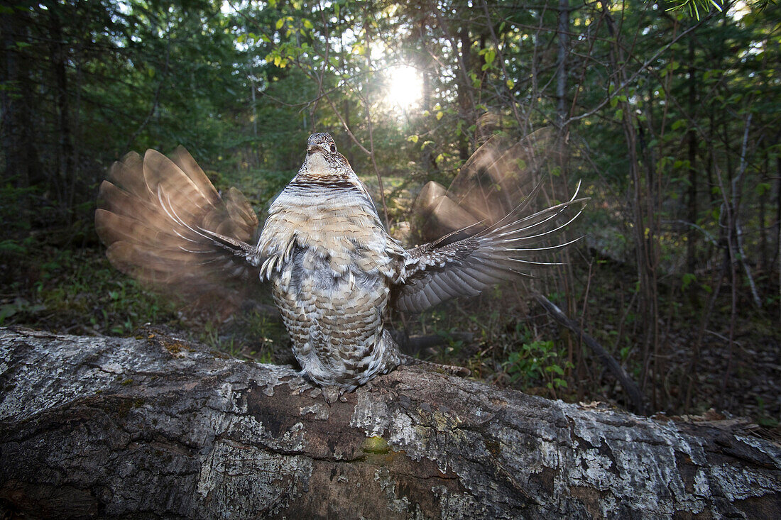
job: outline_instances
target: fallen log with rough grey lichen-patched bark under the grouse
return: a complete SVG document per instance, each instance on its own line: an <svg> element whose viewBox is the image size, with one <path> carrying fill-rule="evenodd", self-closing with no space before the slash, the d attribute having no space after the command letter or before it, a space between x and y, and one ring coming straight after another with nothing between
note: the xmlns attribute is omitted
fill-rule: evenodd
<svg viewBox="0 0 781 520"><path fill-rule="evenodd" d="M0 505L72 518L779 518L781 449L408 367L329 406L147 329L0 329Z"/></svg>

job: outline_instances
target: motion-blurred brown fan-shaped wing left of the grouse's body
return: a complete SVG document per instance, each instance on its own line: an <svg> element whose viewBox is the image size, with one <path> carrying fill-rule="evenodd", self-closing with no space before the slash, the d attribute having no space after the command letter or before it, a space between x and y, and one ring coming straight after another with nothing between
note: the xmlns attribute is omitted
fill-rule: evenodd
<svg viewBox="0 0 781 520"><path fill-rule="evenodd" d="M249 244L255 212L235 188L221 198L184 148L171 159L154 150L144 158L130 153L109 179L95 228L117 269L154 290L196 299L227 297L230 283L237 290L260 283Z"/></svg>

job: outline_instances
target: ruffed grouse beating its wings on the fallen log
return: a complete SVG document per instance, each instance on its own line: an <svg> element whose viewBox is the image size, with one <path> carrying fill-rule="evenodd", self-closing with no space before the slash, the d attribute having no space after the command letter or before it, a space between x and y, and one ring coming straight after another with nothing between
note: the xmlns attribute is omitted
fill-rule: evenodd
<svg viewBox="0 0 781 520"><path fill-rule="evenodd" d="M173 160L128 154L109 178L95 224L118 269L191 297L231 280L251 290L269 281L303 373L340 392L400 364L391 307L419 312L523 274L540 264L535 252L566 245L529 247L572 222L566 212L579 202L405 250L330 135L312 134L253 244L259 223L247 200L235 189L222 198L184 148Z"/></svg>

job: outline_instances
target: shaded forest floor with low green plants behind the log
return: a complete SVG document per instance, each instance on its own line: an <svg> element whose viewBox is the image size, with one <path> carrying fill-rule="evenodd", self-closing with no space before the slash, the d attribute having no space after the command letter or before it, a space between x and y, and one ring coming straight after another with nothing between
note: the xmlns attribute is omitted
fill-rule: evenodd
<svg viewBox="0 0 781 520"><path fill-rule="evenodd" d="M112 269L101 247L28 244L0 255L0 326L28 326L57 333L133 336L145 323L183 331L228 354L259 362L291 363L289 339L277 315L260 305L227 320L187 315L173 302L141 290ZM701 414L709 408L751 418L779 438L781 327L778 304L755 309L741 294L730 347L729 290L722 290L694 356L708 294L683 298L662 293L658 363L644 370L632 271L610 261L575 269L588 297L571 315L644 388L651 412ZM581 289L583 288L581 287ZM583 294L580 290L579 294ZM502 387L564 401L625 405L616 379L576 337L530 305L523 288L508 285L471 300L440 305L414 317L394 317L411 335L436 336L438 346L414 354L466 366L472 376ZM561 294L546 293L565 308ZM654 370L658 372L654 375ZM729 371L729 375L728 375ZM690 393L686 399L687 391ZM687 402L688 401L688 402Z"/></svg>

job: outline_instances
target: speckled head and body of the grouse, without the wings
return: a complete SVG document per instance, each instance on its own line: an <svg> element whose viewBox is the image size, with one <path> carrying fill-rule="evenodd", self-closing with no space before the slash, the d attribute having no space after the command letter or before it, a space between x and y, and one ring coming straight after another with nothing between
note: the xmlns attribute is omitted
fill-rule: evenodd
<svg viewBox="0 0 781 520"><path fill-rule="evenodd" d="M335 150L328 134L309 137L298 175L269 208L258 250L304 372L349 391L400 362L384 322L405 251Z"/></svg>

